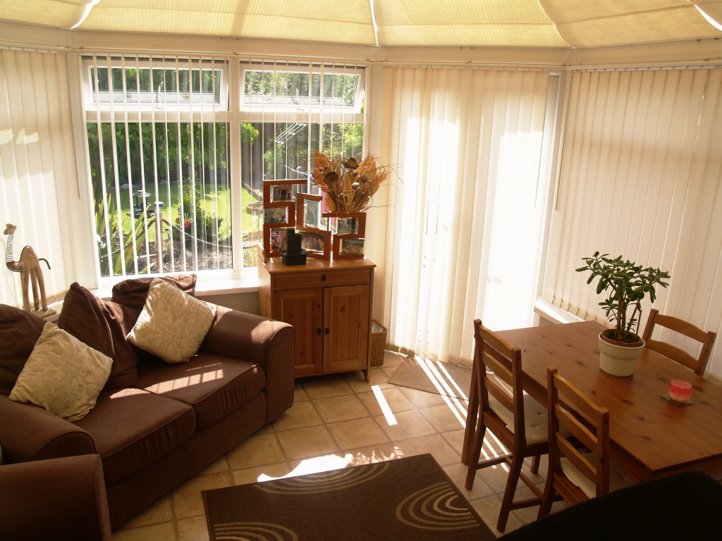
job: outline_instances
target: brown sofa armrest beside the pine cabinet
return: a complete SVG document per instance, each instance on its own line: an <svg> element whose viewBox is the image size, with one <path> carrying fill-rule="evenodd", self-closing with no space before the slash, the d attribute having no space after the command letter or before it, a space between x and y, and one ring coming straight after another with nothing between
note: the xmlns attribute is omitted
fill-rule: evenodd
<svg viewBox="0 0 722 541"><path fill-rule="evenodd" d="M217 307L201 351L258 364L266 374L266 423L293 405L294 330L287 323Z"/></svg>

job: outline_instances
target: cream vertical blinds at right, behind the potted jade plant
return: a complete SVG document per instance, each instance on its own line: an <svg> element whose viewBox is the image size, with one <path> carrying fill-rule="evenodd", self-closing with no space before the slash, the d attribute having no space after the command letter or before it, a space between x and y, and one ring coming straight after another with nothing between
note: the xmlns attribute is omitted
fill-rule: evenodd
<svg viewBox="0 0 722 541"><path fill-rule="evenodd" d="M544 297L604 322L596 281L575 273L599 250L671 273L654 307L722 331L722 69L575 72ZM650 303L643 304L644 328ZM697 356L668 330L656 338ZM722 374L722 350L708 369Z"/></svg>

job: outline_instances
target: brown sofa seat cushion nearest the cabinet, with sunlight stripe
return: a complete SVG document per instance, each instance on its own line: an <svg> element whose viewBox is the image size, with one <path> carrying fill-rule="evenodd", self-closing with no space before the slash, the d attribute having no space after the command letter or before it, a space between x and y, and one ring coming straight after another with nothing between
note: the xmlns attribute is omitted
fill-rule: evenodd
<svg viewBox="0 0 722 541"><path fill-rule="evenodd" d="M191 405L196 426L206 428L266 387L264 371L247 361L201 353L183 364L144 361L138 387Z"/></svg>

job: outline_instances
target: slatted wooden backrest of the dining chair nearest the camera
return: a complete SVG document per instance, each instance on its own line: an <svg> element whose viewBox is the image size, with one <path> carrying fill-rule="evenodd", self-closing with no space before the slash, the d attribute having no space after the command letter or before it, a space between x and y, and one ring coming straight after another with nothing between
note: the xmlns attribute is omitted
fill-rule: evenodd
<svg viewBox="0 0 722 541"><path fill-rule="evenodd" d="M557 374L554 366L547 368L547 399L550 474L561 472L560 460L564 456L582 475L596 485L597 496L609 492L609 410L599 408L567 379ZM571 413L570 407L587 421L591 429ZM576 439L596 453L596 464L591 464L560 434L560 421ZM554 488L567 501L570 500L563 487L554 484Z"/></svg>

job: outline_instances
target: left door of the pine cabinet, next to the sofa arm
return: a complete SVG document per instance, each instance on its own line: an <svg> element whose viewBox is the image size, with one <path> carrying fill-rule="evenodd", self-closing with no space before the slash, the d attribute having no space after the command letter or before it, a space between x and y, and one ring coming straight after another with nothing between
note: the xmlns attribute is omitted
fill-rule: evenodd
<svg viewBox="0 0 722 541"><path fill-rule="evenodd" d="M295 374L323 371L323 289L274 291L274 320L293 325L295 330Z"/></svg>

